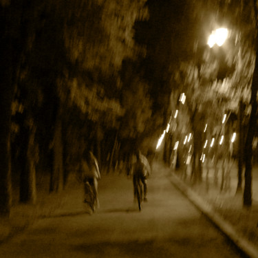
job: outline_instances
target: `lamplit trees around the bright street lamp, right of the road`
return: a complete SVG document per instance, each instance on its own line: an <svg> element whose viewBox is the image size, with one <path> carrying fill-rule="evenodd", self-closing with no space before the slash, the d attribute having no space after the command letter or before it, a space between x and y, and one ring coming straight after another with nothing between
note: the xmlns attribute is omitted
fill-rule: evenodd
<svg viewBox="0 0 258 258"><path fill-rule="evenodd" d="M189 45L182 44L191 54L182 58L173 73L172 81L177 91L171 95L171 109L179 109L178 99L184 92L186 103L181 107L181 116L188 117L189 128L182 130L181 126L179 129L184 136L193 133L192 175L196 182L202 179L205 140L214 137L218 142L225 134L226 151L220 155L226 157L230 136L222 127L222 118L225 113L238 114L239 125L235 128L239 135L237 191L241 191L244 165L244 206L249 207L252 204L252 142L257 123L257 1L205 1L194 3L192 9L197 11L194 14L185 12L183 21L195 21L191 24L196 26L189 31ZM219 27L230 30L229 38L222 47L210 49L206 45L208 34ZM244 115L248 119L246 129ZM178 122L182 124L185 120Z"/></svg>

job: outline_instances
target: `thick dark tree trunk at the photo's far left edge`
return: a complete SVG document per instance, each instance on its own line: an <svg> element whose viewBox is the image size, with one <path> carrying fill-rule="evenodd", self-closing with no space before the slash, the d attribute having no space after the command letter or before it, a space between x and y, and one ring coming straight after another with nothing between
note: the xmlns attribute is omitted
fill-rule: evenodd
<svg viewBox="0 0 258 258"><path fill-rule="evenodd" d="M1 47L0 47L0 215L9 215L12 203L10 127L11 106L14 95L12 83L12 45L10 39L10 8L0 4Z"/></svg>

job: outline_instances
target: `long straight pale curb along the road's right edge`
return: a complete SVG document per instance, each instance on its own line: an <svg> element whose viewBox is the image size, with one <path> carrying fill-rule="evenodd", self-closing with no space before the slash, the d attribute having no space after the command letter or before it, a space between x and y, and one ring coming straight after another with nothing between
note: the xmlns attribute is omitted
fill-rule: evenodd
<svg viewBox="0 0 258 258"><path fill-rule="evenodd" d="M258 258L257 247L238 233L231 224L218 215L210 204L204 202L197 193L189 189L189 186L186 186L186 184L184 184L184 182L182 182L182 180L180 180L176 175L170 175L169 180L175 188L182 192L198 209L200 209L200 211L202 211L202 213L204 213L204 215L206 215L206 217L208 217L208 219L210 219L213 224L215 224L219 230L224 233L224 235L233 241L233 244L235 244L239 250L244 252L250 258Z"/></svg>

